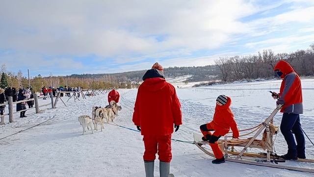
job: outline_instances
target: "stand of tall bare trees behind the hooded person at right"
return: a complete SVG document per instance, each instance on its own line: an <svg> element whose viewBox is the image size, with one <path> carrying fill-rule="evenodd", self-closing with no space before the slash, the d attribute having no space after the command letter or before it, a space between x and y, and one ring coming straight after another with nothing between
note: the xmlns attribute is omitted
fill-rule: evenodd
<svg viewBox="0 0 314 177"><path fill-rule="evenodd" d="M223 82L242 79L275 77L273 68L278 60L287 60L301 76L314 75L314 44L307 50L274 54L272 50L263 50L257 55L221 57L215 60Z"/></svg>

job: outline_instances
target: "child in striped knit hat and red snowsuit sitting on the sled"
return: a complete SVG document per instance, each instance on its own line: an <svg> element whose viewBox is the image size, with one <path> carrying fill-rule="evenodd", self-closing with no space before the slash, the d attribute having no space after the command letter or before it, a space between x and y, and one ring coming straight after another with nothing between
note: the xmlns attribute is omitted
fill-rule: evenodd
<svg viewBox="0 0 314 177"><path fill-rule="evenodd" d="M216 99L216 108L213 119L206 124L200 126L201 132L204 135L202 139L209 141L209 145L216 157L211 161L213 164L225 162L225 157L218 147L217 141L221 136L226 135L230 128L233 132L233 138L239 137L234 114L230 110L231 98L226 95L219 95ZM214 131L211 133L211 131Z"/></svg>

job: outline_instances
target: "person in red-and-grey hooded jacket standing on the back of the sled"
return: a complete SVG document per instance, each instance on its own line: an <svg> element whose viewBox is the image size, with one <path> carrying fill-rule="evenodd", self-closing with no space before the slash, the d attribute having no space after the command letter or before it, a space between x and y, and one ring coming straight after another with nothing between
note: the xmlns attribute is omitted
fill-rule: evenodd
<svg viewBox="0 0 314 177"><path fill-rule="evenodd" d="M277 75L283 79L280 93L273 93L273 98L278 99L277 104L283 105L281 111L283 118L280 130L288 144L288 153L281 157L286 160L296 160L305 157L305 139L300 123L300 114L303 114L303 99L301 80L292 66L285 60L280 60L274 67ZM295 144L294 137L297 145Z"/></svg>

